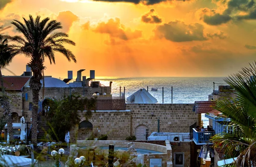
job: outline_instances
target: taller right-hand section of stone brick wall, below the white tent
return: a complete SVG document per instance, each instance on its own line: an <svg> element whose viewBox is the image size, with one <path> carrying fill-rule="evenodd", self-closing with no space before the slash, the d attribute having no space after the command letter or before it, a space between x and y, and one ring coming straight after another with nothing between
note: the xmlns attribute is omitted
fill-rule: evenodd
<svg viewBox="0 0 256 167"><path fill-rule="evenodd" d="M190 126L200 120L194 113L193 104L126 104L131 110L132 135L138 125L147 125L151 132L157 132L157 119L160 119L160 132L167 132L169 126ZM154 116L151 116L154 113Z"/></svg>

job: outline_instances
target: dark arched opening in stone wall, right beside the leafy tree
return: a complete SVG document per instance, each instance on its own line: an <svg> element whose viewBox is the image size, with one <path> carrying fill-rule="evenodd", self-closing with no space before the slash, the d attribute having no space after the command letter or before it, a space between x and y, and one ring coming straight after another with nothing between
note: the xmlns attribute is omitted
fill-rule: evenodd
<svg viewBox="0 0 256 167"><path fill-rule="evenodd" d="M82 121L79 124L78 134L79 140L86 140L93 134L93 124L89 121Z"/></svg>

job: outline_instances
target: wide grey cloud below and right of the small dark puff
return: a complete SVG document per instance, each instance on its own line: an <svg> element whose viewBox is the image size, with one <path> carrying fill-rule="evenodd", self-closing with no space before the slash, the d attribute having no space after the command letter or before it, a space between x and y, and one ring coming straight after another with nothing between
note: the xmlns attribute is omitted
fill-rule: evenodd
<svg viewBox="0 0 256 167"><path fill-rule="evenodd" d="M203 41L207 40L204 37L203 30L204 26L199 23L185 24L182 21L176 20L158 25L154 33L158 38L165 38L173 42Z"/></svg>

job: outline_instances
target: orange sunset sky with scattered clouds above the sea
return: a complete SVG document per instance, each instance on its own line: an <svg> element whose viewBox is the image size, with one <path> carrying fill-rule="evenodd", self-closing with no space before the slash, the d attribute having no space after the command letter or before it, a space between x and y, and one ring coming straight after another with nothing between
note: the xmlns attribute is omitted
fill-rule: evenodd
<svg viewBox="0 0 256 167"><path fill-rule="evenodd" d="M58 20L76 46L77 63L55 54L44 75L215 77L248 67L256 55L255 0L0 0L3 34L29 14ZM20 75L29 58L16 56L3 75ZM9 71L12 71L9 72Z"/></svg>

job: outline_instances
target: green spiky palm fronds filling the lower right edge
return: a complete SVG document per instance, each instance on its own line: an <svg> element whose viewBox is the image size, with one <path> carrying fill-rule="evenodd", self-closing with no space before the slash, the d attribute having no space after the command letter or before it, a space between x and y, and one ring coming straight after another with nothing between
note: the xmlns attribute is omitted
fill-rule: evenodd
<svg viewBox="0 0 256 167"><path fill-rule="evenodd" d="M220 143L227 157L237 157L234 167L256 167L256 62L224 79L235 89L235 98L216 103L215 109L231 119L233 133L218 134L212 141Z"/></svg>

